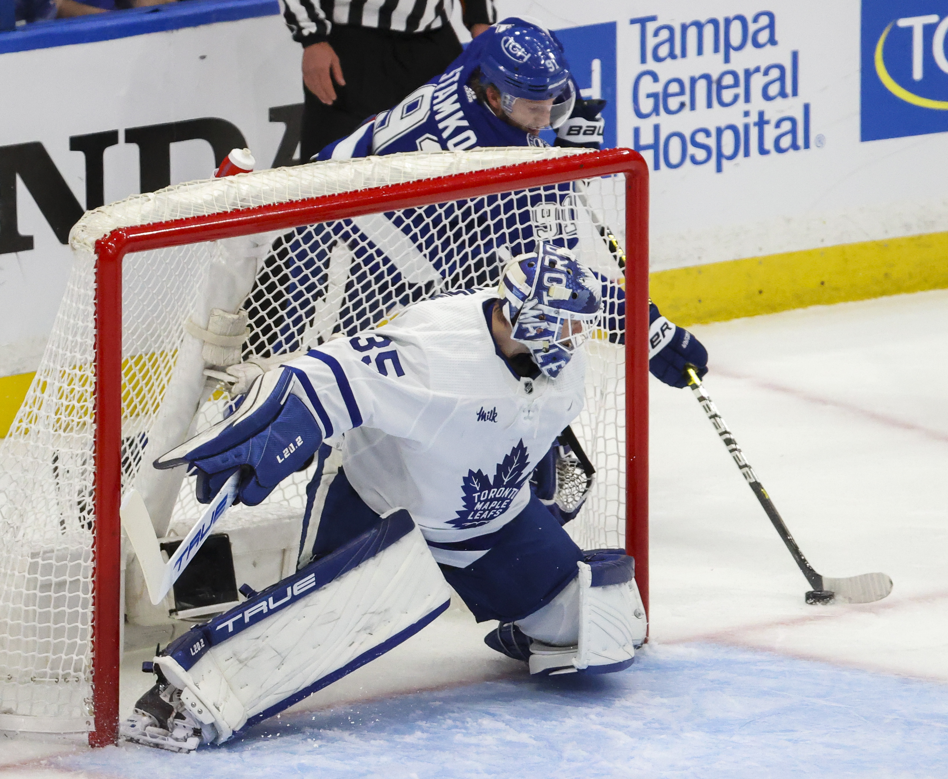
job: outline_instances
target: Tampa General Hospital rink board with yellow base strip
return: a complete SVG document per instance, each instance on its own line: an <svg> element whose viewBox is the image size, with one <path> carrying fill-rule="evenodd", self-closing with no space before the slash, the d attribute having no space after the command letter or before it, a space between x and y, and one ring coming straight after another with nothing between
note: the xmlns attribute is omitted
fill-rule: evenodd
<svg viewBox="0 0 948 779"><path fill-rule="evenodd" d="M943 3L504 9L557 30L615 23L614 44L604 31L567 53L588 61L615 47L616 143L651 170L650 268L663 310L715 321L948 286ZM894 94L876 67L886 29L888 72L922 105Z"/></svg>

